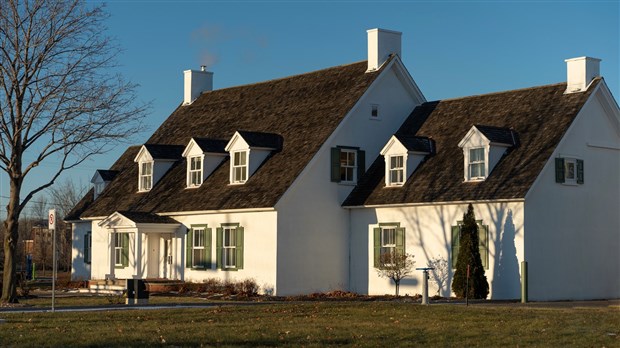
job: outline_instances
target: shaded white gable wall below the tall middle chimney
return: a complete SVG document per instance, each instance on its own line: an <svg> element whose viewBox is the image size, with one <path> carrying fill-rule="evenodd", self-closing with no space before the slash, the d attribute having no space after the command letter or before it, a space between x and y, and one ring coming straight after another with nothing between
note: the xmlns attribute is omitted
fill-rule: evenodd
<svg viewBox="0 0 620 348"><path fill-rule="evenodd" d="M373 104L380 120L371 119ZM330 150L360 147L368 168L418 104L393 69L384 71L276 204L278 295L348 289L349 214L341 204L354 186L330 181Z"/></svg>

